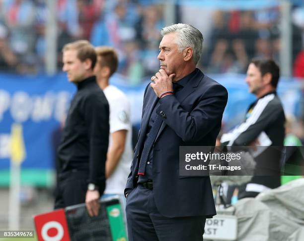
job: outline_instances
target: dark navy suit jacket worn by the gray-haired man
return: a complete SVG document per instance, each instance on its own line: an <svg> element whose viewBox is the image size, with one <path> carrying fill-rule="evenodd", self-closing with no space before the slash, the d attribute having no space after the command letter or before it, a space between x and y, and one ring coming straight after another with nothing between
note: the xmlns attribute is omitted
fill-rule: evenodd
<svg viewBox="0 0 304 241"><path fill-rule="evenodd" d="M166 217L216 215L210 178L179 176L179 146L214 146L227 104L227 90L200 70L175 95L159 99L156 113L163 123L153 147L153 193L158 211ZM157 96L147 86L141 130L125 193L137 186L140 156Z"/></svg>

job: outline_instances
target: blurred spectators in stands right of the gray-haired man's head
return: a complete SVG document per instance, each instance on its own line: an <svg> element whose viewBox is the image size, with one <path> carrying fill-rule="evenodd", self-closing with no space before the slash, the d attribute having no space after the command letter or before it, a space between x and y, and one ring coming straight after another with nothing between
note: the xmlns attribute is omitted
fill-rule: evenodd
<svg viewBox="0 0 304 241"><path fill-rule="evenodd" d="M293 16L293 72L295 77L304 77L304 8L295 7ZM280 21L279 7L256 11L216 11L208 41L210 45L202 65L209 73L245 73L248 61L255 57L273 58L280 62Z"/></svg>

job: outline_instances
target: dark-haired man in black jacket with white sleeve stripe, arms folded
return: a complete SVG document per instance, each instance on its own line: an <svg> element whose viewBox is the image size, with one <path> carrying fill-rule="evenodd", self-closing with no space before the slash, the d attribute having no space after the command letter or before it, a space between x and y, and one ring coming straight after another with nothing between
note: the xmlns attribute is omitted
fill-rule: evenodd
<svg viewBox="0 0 304 241"><path fill-rule="evenodd" d="M281 185L280 159L285 137L285 114L276 89L280 68L271 59L254 59L248 66L246 83L257 99L244 121L221 138L222 145L260 146L252 180L239 188L238 197L255 197ZM261 147L263 146L263 147Z"/></svg>

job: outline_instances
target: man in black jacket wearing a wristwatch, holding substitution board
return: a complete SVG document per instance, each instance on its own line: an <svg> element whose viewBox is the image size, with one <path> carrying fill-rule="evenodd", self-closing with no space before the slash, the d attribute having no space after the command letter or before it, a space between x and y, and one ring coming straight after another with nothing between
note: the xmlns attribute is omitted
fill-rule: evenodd
<svg viewBox="0 0 304 241"><path fill-rule="evenodd" d="M63 48L63 71L77 86L61 144L55 208L86 203L90 216L98 215L105 189L105 160L109 140L109 104L96 84L94 48L76 41Z"/></svg>

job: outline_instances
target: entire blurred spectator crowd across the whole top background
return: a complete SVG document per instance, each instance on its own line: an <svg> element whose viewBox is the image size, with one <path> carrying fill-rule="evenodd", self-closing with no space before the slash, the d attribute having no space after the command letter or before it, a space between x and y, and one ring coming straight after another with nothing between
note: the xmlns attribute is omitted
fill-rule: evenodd
<svg viewBox="0 0 304 241"><path fill-rule="evenodd" d="M159 2L159 1L157 1ZM164 26L163 5L153 0L56 0L58 69L61 49L71 41L89 40L119 52L118 72L140 83L159 66L156 58ZM178 21L182 18L179 5ZM0 0L0 71L28 74L45 69L46 0ZM280 9L210 10L200 67L207 73L245 73L252 57L279 62ZM191 12L187 12L191 15ZM304 6L292 10L293 73L304 77ZM196 26L197 16L193 16ZM204 29L200 29L204 34Z"/></svg>

